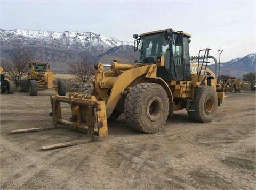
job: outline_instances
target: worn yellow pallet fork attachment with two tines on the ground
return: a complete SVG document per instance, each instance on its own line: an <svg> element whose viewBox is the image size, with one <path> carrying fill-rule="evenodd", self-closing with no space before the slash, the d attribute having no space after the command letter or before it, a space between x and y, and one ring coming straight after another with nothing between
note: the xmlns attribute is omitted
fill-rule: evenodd
<svg viewBox="0 0 256 190"><path fill-rule="evenodd" d="M46 131L56 129L58 124L71 126L73 129L87 132L88 138L68 141L58 144L42 146L41 149L57 149L66 146L73 146L94 141L94 135L101 140L108 136L107 114L105 101L98 101L90 94L70 94L69 97L56 96L50 97L52 104L52 127L47 128L28 128L11 131L11 134ZM60 103L69 103L71 106L70 120L62 119Z"/></svg>

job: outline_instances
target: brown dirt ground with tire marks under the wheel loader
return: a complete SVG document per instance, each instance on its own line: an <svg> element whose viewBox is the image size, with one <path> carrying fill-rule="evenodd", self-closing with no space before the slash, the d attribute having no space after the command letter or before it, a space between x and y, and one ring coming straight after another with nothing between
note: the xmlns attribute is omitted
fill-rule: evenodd
<svg viewBox="0 0 256 190"><path fill-rule="evenodd" d="M82 132L51 125L49 96L1 94L1 189L255 189L255 92L227 93L211 123L175 113L156 134L123 116L101 141L41 151ZM39 94L40 95L40 94Z"/></svg>

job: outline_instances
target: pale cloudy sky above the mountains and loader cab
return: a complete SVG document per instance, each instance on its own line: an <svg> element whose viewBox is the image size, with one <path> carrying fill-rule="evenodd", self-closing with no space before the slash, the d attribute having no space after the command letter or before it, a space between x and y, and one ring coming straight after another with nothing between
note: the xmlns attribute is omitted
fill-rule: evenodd
<svg viewBox="0 0 256 190"><path fill-rule="evenodd" d="M227 62L256 53L256 0L1 0L0 13L3 30L93 32L134 41L133 34L172 28L191 34L190 56L210 48L210 55Z"/></svg>

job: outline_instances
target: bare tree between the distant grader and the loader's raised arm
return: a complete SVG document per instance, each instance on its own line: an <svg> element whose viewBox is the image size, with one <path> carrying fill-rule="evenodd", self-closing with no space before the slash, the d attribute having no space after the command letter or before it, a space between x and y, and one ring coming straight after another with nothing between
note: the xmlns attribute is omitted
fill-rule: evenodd
<svg viewBox="0 0 256 190"><path fill-rule="evenodd" d="M85 83L93 79L95 72L87 52L81 54L76 62L71 62L68 65L70 74L75 75L76 79Z"/></svg>

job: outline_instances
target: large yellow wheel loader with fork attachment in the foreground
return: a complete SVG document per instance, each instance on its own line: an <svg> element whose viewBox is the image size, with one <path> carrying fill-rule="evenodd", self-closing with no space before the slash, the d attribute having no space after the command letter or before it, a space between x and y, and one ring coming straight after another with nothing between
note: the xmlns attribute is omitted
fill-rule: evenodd
<svg viewBox="0 0 256 190"><path fill-rule="evenodd" d="M168 116L182 109L186 109L191 120L211 122L225 95L216 92L215 74L207 68L210 49L200 50L197 63L190 64L188 33L165 29L133 37L134 50L138 52L135 63L95 63L91 94L50 97L54 127L63 124L87 131L93 141L94 135L99 139L106 137L107 123L114 122L122 113L127 123L142 133L156 133ZM71 106L69 120L62 117L62 103ZM41 129L33 129L37 130ZM81 142L59 143L43 149Z"/></svg>

